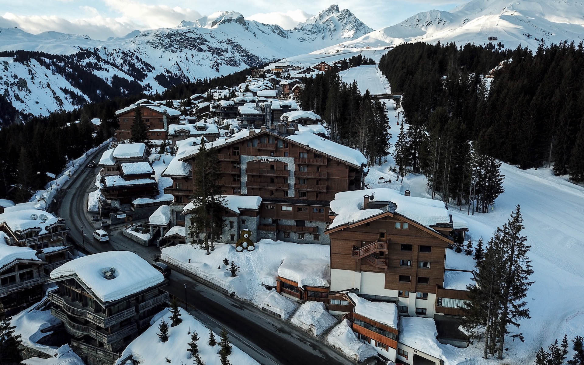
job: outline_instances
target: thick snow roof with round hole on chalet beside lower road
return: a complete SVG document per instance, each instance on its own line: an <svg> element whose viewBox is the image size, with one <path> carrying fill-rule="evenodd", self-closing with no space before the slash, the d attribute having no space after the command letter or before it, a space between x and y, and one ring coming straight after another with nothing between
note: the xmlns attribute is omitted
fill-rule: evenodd
<svg viewBox="0 0 584 365"><path fill-rule="evenodd" d="M102 270L114 267L114 279L106 279ZM57 267L51 279L77 275L102 302L118 300L164 281L164 277L146 260L129 251L107 251L82 256Z"/></svg>

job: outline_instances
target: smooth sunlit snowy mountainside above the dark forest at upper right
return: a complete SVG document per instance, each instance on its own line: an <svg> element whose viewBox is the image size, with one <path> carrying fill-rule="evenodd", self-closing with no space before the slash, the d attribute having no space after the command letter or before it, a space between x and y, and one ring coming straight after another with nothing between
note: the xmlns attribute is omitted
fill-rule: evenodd
<svg viewBox="0 0 584 365"><path fill-rule="evenodd" d="M319 53L364 47L397 46L410 41L454 41L536 49L544 44L584 38L584 2L580 0L473 0L452 12L420 12L401 23L375 30ZM537 38L537 40L536 40Z"/></svg>

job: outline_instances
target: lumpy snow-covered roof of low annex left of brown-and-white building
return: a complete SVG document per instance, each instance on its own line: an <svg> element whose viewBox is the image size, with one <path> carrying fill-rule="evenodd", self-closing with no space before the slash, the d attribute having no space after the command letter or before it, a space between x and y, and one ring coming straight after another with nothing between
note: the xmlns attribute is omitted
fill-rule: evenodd
<svg viewBox="0 0 584 365"><path fill-rule="evenodd" d="M329 287L331 286L329 262L328 257L286 258L278 267L278 276L296 281L300 288L304 286Z"/></svg>

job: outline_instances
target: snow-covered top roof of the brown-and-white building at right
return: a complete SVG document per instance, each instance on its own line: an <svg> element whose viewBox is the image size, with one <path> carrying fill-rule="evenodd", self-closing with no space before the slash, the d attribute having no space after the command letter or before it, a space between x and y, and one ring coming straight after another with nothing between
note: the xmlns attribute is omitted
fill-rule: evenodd
<svg viewBox="0 0 584 365"><path fill-rule="evenodd" d="M450 215L444 207L443 201L405 196L404 193L397 190L380 187L336 193L335 200L331 201L331 210L337 216L329 225L329 229L384 213L381 209L363 209L363 196L366 194L375 196L376 201L391 201L397 205L395 213L404 215L404 217L428 228L436 223L450 221Z"/></svg>

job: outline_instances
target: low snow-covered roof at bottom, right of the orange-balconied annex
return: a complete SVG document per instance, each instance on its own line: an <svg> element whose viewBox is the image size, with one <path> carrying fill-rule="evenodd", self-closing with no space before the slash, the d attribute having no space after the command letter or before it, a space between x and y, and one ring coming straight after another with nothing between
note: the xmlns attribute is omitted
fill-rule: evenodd
<svg viewBox="0 0 584 365"><path fill-rule="evenodd" d="M437 335L433 318L402 317L399 321L399 342L442 359L443 352L436 339Z"/></svg>

